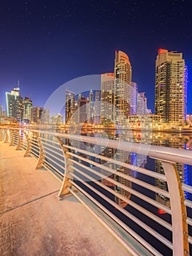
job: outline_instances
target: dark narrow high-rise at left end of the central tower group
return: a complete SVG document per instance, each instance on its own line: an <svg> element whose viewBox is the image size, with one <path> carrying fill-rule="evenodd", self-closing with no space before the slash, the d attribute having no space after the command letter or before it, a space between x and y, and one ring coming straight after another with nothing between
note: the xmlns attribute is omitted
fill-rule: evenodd
<svg viewBox="0 0 192 256"><path fill-rule="evenodd" d="M66 90L66 116L65 121L66 124L74 124L74 112L75 112L75 99L74 99L74 92Z"/></svg>

